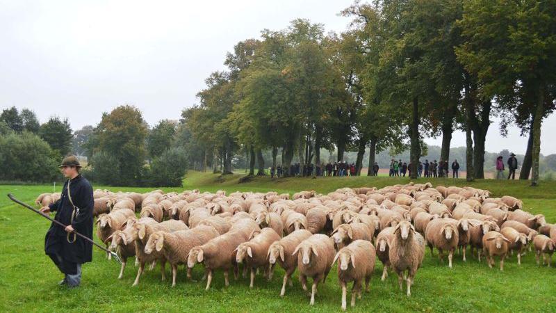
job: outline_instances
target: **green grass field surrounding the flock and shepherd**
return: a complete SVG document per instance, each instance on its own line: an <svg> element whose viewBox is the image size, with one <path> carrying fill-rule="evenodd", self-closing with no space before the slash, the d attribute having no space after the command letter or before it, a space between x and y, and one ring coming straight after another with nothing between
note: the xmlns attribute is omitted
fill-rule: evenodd
<svg viewBox="0 0 556 313"><path fill-rule="evenodd" d="M278 191L293 193L315 190L327 193L343 186L387 186L409 182L408 178L389 177L319 177L277 179L257 177L251 182L238 184L242 175L218 175L190 172L183 188L163 188L182 191L199 188L201 191L223 189L233 191ZM419 182L426 182L419 179ZM464 186L464 179L429 179L434 185ZM521 198L525 209L546 215L549 223L556 222L556 182L541 182L531 188L527 182L482 180L471 186L489 189L493 196L514 195ZM110 188L93 186L94 188ZM59 186L57 187L59 191ZM144 192L152 188L110 188L112 191ZM54 264L44 255L44 233L49 222L44 218L16 207L6 197L13 193L20 200L32 203L36 195L51 192L52 186L0 185L0 311L1 312L329 312L339 311L341 289L333 268L326 284L318 288L316 304L309 306L309 297L302 291L294 275L294 285L286 296L278 296L283 271L278 269L271 282L257 277L255 288L249 289L249 279L231 280L224 287L222 273L217 272L211 290L204 291L204 282L190 282L179 268L177 287L161 282L160 271L147 271L138 287L131 287L137 271L129 262L124 278L117 280L119 264L108 261L103 252L96 250L93 262L83 266L83 282L78 289L58 287L62 278ZM385 282L380 281L382 264L377 262L371 280L370 293L363 294L356 307L348 310L368 311L425 311L425 312L541 312L556 310L556 268L539 267L534 255L528 253L521 266L516 257L505 263L505 270L489 268L483 261L455 257L454 268L441 264L438 259L425 255L425 262L416 275L411 298L399 291L392 273ZM498 263L497 263L498 264ZM166 269L167 276L170 270ZM202 268L194 271L201 278ZM349 299L350 294L348 294Z"/></svg>

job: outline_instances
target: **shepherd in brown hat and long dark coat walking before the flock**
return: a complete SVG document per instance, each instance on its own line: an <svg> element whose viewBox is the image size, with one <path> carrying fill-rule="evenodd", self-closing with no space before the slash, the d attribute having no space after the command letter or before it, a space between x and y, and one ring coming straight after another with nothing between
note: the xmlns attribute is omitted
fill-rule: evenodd
<svg viewBox="0 0 556 313"><path fill-rule="evenodd" d="M92 243L73 232L92 239L92 209L95 201L91 184L79 174L81 164L77 157L68 155L60 168L67 178L62 195L58 201L42 207L40 211L43 214L55 211L54 219L67 226L50 225L44 238L44 252L65 275L60 285L78 287L81 283L81 264L92 261Z"/></svg>

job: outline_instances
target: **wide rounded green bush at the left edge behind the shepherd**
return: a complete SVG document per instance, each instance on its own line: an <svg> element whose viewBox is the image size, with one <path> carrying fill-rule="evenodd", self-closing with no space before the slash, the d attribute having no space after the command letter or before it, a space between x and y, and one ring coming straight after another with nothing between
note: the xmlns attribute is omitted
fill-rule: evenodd
<svg viewBox="0 0 556 313"><path fill-rule="evenodd" d="M0 180L54 182L60 160L39 136L24 131L0 136Z"/></svg>

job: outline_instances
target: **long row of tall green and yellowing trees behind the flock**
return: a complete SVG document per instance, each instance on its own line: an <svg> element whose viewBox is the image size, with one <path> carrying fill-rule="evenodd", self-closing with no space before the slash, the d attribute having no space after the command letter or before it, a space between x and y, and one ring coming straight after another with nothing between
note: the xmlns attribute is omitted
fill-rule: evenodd
<svg viewBox="0 0 556 313"><path fill-rule="evenodd" d="M322 162L321 148L357 152L369 163L387 148L425 154L423 139L466 134L467 179L484 178L491 117L528 135L521 178L538 184L540 131L555 108L556 1L392 0L354 3L347 30L295 19L281 31L238 42L227 70L213 72L199 104L182 113L197 151L192 160L231 172L247 154L263 174L263 151L289 168ZM409 163L408 162L408 163ZM412 169L412 176L416 175ZM287 173L286 173L287 174ZM415 178L415 177L412 177Z"/></svg>

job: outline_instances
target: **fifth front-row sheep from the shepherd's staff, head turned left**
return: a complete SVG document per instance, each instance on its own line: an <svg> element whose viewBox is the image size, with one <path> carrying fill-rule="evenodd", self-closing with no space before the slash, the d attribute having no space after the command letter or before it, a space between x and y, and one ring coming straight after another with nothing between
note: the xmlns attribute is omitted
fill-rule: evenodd
<svg viewBox="0 0 556 313"><path fill-rule="evenodd" d="M251 268L250 288L253 288L256 270L268 264L270 244L279 240L280 235L275 230L265 227L250 241L240 243L236 248L236 262L238 264L245 262L245 266ZM271 278L272 274L268 271L268 279Z"/></svg>

